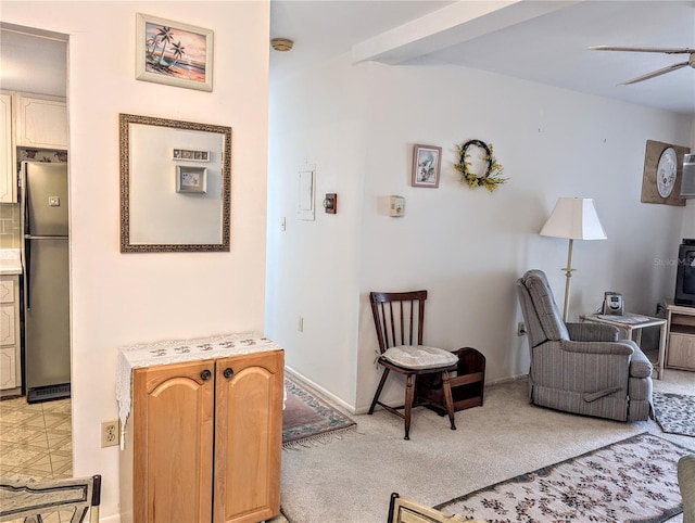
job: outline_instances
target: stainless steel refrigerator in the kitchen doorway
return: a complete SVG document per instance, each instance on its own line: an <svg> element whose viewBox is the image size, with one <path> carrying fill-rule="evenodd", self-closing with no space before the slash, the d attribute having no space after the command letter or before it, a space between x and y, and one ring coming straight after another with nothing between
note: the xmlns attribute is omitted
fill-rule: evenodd
<svg viewBox="0 0 695 523"><path fill-rule="evenodd" d="M24 383L28 403L70 396L67 165L22 162Z"/></svg>

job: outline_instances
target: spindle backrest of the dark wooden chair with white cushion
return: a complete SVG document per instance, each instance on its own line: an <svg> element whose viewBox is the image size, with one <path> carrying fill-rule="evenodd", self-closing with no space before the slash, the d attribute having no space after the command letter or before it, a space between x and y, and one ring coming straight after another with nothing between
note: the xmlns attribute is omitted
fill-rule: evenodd
<svg viewBox="0 0 695 523"><path fill-rule="evenodd" d="M381 354L397 345L422 345L427 291L370 292Z"/></svg>

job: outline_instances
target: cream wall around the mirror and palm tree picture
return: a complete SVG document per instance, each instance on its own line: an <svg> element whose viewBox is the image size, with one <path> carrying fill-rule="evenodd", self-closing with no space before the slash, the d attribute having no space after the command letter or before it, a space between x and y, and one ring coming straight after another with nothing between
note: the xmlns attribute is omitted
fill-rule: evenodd
<svg viewBox="0 0 695 523"><path fill-rule="evenodd" d="M135 79L136 12L214 31L214 91ZM2 2L3 22L70 35L74 473L103 475L117 521L117 347L263 330L269 4ZM118 113L232 127L231 251L121 254Z"/></svg>

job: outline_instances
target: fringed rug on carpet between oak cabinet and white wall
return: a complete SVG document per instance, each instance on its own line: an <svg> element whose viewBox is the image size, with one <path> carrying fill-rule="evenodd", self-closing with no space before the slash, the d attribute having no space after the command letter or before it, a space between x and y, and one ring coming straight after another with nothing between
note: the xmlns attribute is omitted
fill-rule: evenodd
<svg viewBox="0 0 695 523"><path fill-rule="evenodd" d="M282 411L282 447L296 449L326 444L345 433L354 432L357 423L339 412L316 393L298 381L285 377L287 399Z"/></svg>

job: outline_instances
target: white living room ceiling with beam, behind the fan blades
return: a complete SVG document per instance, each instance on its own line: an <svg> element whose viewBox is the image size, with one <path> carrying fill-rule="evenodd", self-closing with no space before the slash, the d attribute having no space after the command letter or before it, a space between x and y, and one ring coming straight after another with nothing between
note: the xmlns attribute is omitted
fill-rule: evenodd
<svg viewBox="0 0 695 523"><path fill-rule="evenodd" d="M695 115L695 69L619 84L687 54L591 51L590 46L695 49L695 1L271 0L271 78L351 52L353 61L452 64Z"/></svg>

